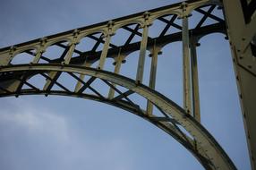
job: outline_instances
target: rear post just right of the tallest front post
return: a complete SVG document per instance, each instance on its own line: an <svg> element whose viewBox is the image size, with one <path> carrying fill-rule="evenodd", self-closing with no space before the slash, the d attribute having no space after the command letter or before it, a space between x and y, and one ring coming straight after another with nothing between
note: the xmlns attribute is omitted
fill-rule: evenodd
<svg viewBox="0 0 256 170"><path fill-rule="evenodd" d="M198 66L197 66L197 42L191 37L191 66L192 66L192 111L194 118L201 122L200 115L200 96L199 96L199 80L198 80Z"/></svg>

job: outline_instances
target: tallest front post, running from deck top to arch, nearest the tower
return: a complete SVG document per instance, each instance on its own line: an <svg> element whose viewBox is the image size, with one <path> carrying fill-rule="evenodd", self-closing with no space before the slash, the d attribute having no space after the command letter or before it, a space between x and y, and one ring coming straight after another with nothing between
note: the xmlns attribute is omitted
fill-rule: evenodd
<svg viewBox="0 0 256 170"><path fill-rule="evenodd" d="M189 29L186 4L183 7L183 107L188 114L192 114Z"/></svg>

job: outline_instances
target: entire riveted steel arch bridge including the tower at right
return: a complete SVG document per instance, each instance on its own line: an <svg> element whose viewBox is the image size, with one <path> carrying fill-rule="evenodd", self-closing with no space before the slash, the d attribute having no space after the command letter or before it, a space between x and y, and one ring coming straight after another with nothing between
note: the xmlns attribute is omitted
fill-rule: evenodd
<svg viewBox="0 0 256 170"><path fill-rule="evenodd" d="M253 28L256 27L254 27L255 18L252 13L255 8L252 4L255 1L252 0L247 4L241 4L241 2L239 0L223 2L190 0L35 39L13 47L4 47L0 49L0 97L60 95L86 98L117 106L141 116L170 134L206 169L236 169L218 142L202 126L200 116L196 47L199 46L200 38L210 33L220 32L229 38L233 51L243 118L246 132L250 136L247 140L252 169L254 169L256 134L255 130L253 131L255 127L253 112L256 108L252 101L256 99L255 88L253 90L253 85L256 85L256 67L252 62L254 60L252 56L255 56L256 43ZM223 8L225 18L212 13ZM237 19L234 16L234 10L238 10L241 17ZM194 27L190 27L189 17L193 12L201 13L202 17ZM207 22L208 18L214 22ZM149 37L150 26L156 24L156 21L165 24L165 27L160 30L158 36ZM170 28L176 31L168 31ZM128 31L130 36L124 39L124 43L114 44L112 38L118 36L119 30ZM242 35L241 32L244 30L247 32ZM136 36L141 40L136 40ZM94 40L95 43L90 49L81 50L78 46L86 38ZM183 107L155 90L158 55L161 54L163 47L176 41L183 43ZM47 51L53 47L61 48L62 52L50 57ZM150 52L151 62L149 85L143 83L147 50ZM136 78L132 79L122 75L120 69L126 60L130 60L129 54L134 51L139 51L139 56L136 63ZM25 55L29 55L30 59L24 60ZM115 60L114 72L106 69L108 58ZM73 80L73 89L67 88L66 82L59 81L64 74L68 80ZM35 77L45 79L39 82L43 85L42 88L39 88L35 81L31 81ZM108 94L101 94L93 87L94 81L103 82L109 88ZM119 87L123 87L123 90ZM88 93L88 89L92 93ZM132 94L146 98L148 101L146 108L132 101L130 98ZM153 107L158 108L162 115L154 115ZM246 119L245 115L250 119Z"/></svg>

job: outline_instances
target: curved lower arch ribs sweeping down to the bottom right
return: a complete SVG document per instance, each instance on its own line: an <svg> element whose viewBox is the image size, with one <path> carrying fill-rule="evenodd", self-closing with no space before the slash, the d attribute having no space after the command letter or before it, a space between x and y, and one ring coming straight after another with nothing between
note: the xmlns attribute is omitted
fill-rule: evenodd
<svg viewBox="0 0 256 170"><path fill-rule="evenodd" d="M173 125L171 123L168 123L168 125L166 123L161 123L158 118L155 118L154 116L150 117L149 115L141 112L138 107L131 107L127 105L127 103L125 103L124 101L119 103L113 103L111 100L108 99L102 100L102 98L95 98L90 95L84 96L80 93L72 92L51 91L47 93L55 95L71 95L73 97L79 98L88 98L123 108L124 110L132 112L135 115L143 117L149 122L157 125L160 129L171 134L175 138L175 140L179 141L186 149L190 150L194 157L196 157L201 162L201 165L204 166L206 169L236 169L235 165L226 155L225 151L219 146L218 142L209 134L209 132L201 125L201 123L198 123L191 115L188 115L183 110L183 108L177 106L175 102L158 93L158 91L150 89L149 87L133 81L130 78L115 74L113 72L106 72L78 65L64 64L21 64L13 66L3 66L0 69L0 73L2 74L8 72L21 72L21 74L25 74L26 72L80 73L123 86L124 88L132 90L133 92L141 95L141 97L149 99L150 102L157 106L165 115L170 116L168 118L175 120L176 123L183 126L183 128L190 133L193 139L189 138L183 132L176 131L177 129L175 130L175 123L173 123ZM5 91L5 93L2 93L1 97L20 94L28 95L45 93L45 91L37 90L24 91L20 92L19 94L15 91ZM193 144L192 141L196 141L196 145Z"/></svg>

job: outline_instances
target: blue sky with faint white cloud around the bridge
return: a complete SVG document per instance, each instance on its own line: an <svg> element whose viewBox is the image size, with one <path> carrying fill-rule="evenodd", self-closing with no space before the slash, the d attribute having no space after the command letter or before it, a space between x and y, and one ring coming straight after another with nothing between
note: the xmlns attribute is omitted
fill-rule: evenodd
<svg viewBox="0 0 256 170"><path fill-rule="evenodd" d="M176 2L181 1L0 1L0 47ZM181 51L178 42L163 48L157 81L158 91L179 105ZM249 170L228 41L221 34L202 38L198 55L202 123L237 168ZM132 64L126 65L130 72ZM0 98L0 169L203 168L165 132L119 108L80 98L22 96Z"/></svg>

